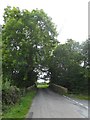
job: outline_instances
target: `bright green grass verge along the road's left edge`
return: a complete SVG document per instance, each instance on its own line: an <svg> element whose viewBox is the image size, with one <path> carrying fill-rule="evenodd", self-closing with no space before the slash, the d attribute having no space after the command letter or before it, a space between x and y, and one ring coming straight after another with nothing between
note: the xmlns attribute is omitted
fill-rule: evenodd
<svg viewBox="0 0 90 120"><path fill-rule="evenodd" d="M21 101L12 106L2 118L22 118L25 119L26 114L31 106L33 97L36 95L35 91L28 92L26 96L21 98Z"/></svg>

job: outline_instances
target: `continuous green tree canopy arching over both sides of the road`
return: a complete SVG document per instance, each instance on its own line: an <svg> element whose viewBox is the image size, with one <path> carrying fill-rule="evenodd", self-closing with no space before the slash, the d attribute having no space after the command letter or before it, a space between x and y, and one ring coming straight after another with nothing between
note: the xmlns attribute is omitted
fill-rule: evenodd
<svg viewBox="0 0 90 120"><path fill-rule="evenodd" d="M59 43L56 26L42 9L7 6L3 17L3 82L28 87L44 71L51 83L87 92L89 39L82 44L72 39Z"/></svg>

